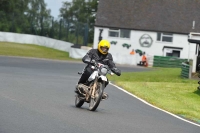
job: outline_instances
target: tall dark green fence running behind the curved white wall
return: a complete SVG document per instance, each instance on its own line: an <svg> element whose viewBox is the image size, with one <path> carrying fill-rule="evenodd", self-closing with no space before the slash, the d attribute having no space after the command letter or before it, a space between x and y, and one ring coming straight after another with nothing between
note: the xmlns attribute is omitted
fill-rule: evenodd
<svg viewBox="0 0 200 133"><path fill-rule="evenodd" d="M88 45L89 25L64 18L29 18L26 14L0 12L0 31L45 36L52 39Z"/></svg>

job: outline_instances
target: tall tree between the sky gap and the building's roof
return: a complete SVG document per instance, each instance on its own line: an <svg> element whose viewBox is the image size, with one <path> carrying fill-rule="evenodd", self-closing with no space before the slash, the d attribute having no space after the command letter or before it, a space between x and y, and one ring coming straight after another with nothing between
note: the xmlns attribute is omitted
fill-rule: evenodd
<svg viewBox="0 0 200 133"><path fill-rule="evenodd" d="M60 17L67 22L68 31L75 31L76 36L79 37L78 34L83 34L82 32L85 32L85 28L89 26L89 42L92 43L95 23L94 12L97 10L97 4L97 0L64 2L60 8Z"/></svg>

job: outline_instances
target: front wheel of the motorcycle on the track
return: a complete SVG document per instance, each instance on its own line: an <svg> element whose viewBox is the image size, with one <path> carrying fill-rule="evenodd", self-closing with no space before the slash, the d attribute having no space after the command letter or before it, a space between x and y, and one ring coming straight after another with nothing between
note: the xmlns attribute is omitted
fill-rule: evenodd
<svg viewBox="0 0 200 133"><path fill-rule="evenodd" d="M104 83L101 82L98 83L94 98L92 97L90 98L90 103L89 103L90 111L95 111L99 106L99 103L101 102L101 98L103 95L104 86L105 86Z"/></svg>

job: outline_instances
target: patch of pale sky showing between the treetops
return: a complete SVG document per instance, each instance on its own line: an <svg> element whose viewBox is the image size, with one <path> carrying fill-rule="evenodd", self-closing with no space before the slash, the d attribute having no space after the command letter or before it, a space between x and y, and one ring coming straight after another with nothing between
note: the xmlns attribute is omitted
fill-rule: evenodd
<svg viewBox="0 0 200 133"><path fill-rule="evenodd" d="M71 2L72 0L44 0L44 2L47 4L47 9L51 9L51 15L54 18L58 18L58 15L60 14L59 9L62 7L62 2Z"/></svg>

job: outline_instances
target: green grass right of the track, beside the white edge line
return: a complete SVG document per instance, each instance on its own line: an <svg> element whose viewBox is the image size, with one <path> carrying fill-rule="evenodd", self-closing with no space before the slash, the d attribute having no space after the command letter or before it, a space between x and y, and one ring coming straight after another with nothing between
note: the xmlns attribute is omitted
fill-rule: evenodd
<svg viewBox="0 0 200 133"><path fill-rule="evenodd" d="M149 103L198 122L200 91L196 80L180 77L180 68L156 68L148 72L123 73L109 79Z"/></svg>

